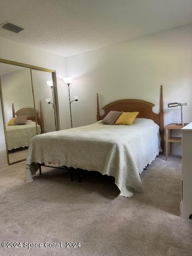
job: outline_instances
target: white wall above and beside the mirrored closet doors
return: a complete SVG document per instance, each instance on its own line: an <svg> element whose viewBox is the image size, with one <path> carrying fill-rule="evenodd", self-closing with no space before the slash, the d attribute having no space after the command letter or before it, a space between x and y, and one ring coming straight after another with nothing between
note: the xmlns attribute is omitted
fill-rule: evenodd
<svg viewBox="0 0 192 256"><path fill-rule="evenodd" d="M66 61L63 57L44 52L38 48L18 44L0 37L0 58L56 70L61 128L70 125L68 88L62 81L66 76ZM0 111L0 166L7 164L2 113Z"/></svg>

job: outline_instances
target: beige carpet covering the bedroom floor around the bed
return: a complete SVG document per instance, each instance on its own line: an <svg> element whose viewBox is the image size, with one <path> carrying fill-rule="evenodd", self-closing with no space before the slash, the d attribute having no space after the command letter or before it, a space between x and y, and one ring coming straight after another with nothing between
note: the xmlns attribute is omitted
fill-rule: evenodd
<svg viewBox="0 0 192 256"><path fill-rule="evenodd" d="M42 168L25 182L24 162L0 170L0 242L62 248L2 248L1 256L191 256L192 220L180 218L181 159L163 156L141 175L144 192L118 196L112 177ZM80 242L80 248L66 248Z"/></svg>

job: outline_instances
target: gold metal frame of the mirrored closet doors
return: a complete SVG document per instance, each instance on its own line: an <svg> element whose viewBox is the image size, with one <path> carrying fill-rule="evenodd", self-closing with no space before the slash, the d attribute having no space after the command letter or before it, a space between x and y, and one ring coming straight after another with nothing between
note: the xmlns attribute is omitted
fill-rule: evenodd
<svg viewBox="0 0 192 256"><path fill-rule="evenodd" d="M15 66L20 66L24 68L29 68L30 70L30 78L31 78L31 85L32 85L32 94L33 94L33 100L34 100L34 111L36 113L36 108L35 108L35 96L34 96L34 86L33 86L33 76L32 76L32 70L39 70L39 71L44 71L44 72L49 72L52 73L52 81L53 81L53 93L54 93L54 101L55 101L55 110L56 110L56 130L60 130L60 119L59 119L59 106L58 106L58 93L57 93L57 80L56 80L56 71L48 68L42 68L38 66L33 66L33 65L28 65L20 62L15 62L12 60L4 60L0 58L0 63L4 64L10 64L10 65L15 65ZM3 124L4 124L4 134L5 134L5 142L6 142L6 153L7 153L7 162L8 165L15 164L18 162L25 161L26 159L18 160L15 162L10 162L9 161L9 154L8 154L8 143L7 143L7 135L6 135L6 123L5 123L5 116L4 116L4 106L3 106L3 96L2 96L2 86L1 86L1 78L0 78L0 99L1 99L1 108L2 108L2 116L3 116ZM36 118L36 114L35 114ZM36 120L36 132L37 132L37 120ZM38 134L38 132L37 132Z"/></svg>

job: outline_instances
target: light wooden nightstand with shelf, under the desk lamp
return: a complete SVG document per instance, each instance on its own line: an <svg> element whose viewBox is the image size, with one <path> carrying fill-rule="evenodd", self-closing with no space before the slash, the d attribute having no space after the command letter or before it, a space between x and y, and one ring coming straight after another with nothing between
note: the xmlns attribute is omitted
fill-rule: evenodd
<svg viewBox="0 0 192 256"><path fill-rule="evenodd" d="M168 124L165 126L165 136L166 136L166 142L165 142L165 147L166 147L166 160L168 157L168 142L170 142L170 154L172 153L172 142L181 142L182 138L181 137L172 137L172 130L180 130L184 127L185 125L177 125L177 124ZM170 130L170 136L168 138L168 130Z"/></svg>

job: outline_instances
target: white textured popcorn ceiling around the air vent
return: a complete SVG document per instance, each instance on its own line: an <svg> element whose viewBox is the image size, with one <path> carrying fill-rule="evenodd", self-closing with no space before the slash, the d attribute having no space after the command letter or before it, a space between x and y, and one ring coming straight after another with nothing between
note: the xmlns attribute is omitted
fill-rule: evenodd
<svg viewBox="0 0 192 256"><path fill-rule="evenodd" d="M0 0L0 36L64 57L192 23L192 0Z"/></svg>

